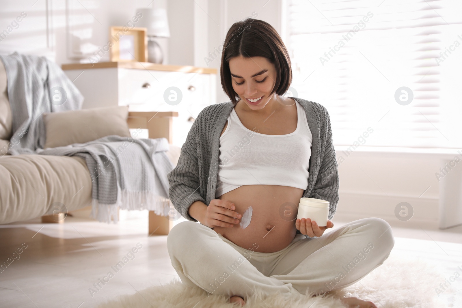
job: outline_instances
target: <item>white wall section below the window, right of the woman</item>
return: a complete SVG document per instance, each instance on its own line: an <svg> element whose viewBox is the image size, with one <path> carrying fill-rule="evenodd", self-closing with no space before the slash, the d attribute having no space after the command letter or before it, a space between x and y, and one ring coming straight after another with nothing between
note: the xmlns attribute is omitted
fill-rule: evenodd
<svg viewBox="0 0 462 308"><path fill-rule="evenodd" d="M337 151L337 157L345 155ZM437 157L417 154L367 153L361 149L339 165L340 200L335 218L351 221L381 217L401 226L438 226ZM413 217L401 222L395 208L409 203Z"/></svg>

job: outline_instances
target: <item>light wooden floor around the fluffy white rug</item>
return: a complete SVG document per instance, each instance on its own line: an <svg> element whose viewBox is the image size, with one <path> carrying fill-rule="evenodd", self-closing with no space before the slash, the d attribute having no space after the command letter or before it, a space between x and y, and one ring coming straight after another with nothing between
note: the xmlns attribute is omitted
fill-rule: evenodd
<svg viewBox="0 0 462 308"><path fill-rule="evenodd" d="M36 219L0 225L0 264L13 259L23 243L27 245L22 254L14 255L17 260L0 272L0 307L95 307L117 295L179 279L170 264L167 236L148 238L146 212L131 213L116 225L75 217L67 217L64 224L42 224ZM181 221L184 218L175 223ZM334 229L342 224L334 219ZM462 274L457 268L462 268L462 226L448 230L392 229L392 254L436 262L448 279L456 271ZM133 260L114 271L111 266L137 243L142 248L133 257L128 255ZM114 276L100 284L100 290L95 289L93 284L109 271ZM444 281L435 282L435 288L440 283ZM452 284L458 290L453 307L462 307L462 276ZM91 294L90 288L97 292Z"/></svg>

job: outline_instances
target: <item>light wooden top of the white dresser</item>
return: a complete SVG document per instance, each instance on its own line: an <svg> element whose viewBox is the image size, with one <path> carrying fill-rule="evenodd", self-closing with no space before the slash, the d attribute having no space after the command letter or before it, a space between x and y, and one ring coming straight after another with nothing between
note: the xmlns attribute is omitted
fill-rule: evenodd
<svg viewBox="0 0 462 308"><path fill-rule="evenodd" d="M205 74L216 74L216 68L183 66L183 65L164 65L150 62L97 62L97 63L69 63L62 64L62 70L80 70L90 68L134 68L154 71L171 71L171 72L200 72Z"/></svg>

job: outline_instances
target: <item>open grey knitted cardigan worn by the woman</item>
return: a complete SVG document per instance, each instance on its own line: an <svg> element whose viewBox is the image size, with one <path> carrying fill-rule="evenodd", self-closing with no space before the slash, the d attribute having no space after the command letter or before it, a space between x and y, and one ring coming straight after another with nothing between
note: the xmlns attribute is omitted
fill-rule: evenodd
<svg viewBox="0 0 462 308"><path fill-rule="evenodd" d="M319 103L291 98L304 108L313 135L310 175L303 197L329 201L328 217L332 219L339 200L339 175L329 114ZM182 145L176 167L167 175L170 201L176 211L190 221L197 222L188 214L188 208L193 202L200 200L209 205L215 199L219 138L233 108L230 101L213 104L201 110ZM297 230L297 233L300 231Z"/></svg>

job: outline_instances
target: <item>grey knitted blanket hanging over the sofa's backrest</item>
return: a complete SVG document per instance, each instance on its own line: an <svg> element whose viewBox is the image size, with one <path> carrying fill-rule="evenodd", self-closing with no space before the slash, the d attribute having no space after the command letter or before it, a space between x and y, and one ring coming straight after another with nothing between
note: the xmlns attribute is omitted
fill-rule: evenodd
<svg viewBox="0 0 462 308"><path fill-rule="evenodd" d="M43 112L80 109L84 97L66 74L46 57L14 52L0 55L12 113L8 154L33 154L45 145Z"/></svg>

